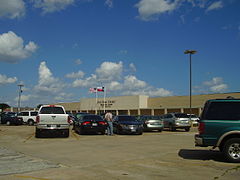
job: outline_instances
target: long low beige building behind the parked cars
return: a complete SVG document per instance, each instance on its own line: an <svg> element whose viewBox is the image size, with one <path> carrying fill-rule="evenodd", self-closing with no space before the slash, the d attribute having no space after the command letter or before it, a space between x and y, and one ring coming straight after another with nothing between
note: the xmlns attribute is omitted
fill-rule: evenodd
<svg viewBox="0 0 240 180"><path fill-rule="evenodd" d="M222 99L228 96L240 98L240 93L204 94L192 96L192 113L200 115L204 103L208 99ZM169 112L190 113L189 96L148 97L137 96L115 96L103 98L85 98L80 102L57 103L63 105L67 112L88 112L102 114L111 111L113 114L121 115L161 115Z"/></svg>

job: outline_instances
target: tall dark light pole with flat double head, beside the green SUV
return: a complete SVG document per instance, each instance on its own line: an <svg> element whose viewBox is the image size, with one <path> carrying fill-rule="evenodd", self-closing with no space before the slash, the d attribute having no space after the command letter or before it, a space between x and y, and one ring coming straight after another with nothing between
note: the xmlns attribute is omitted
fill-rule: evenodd
<svg viewBox="0 0 240 180"><path fill-rule="evenodd" d="M195 54L195 50L186 50L184 54L189 54L189 108L190 108L190 121L192 114L192 54Z"/></svg>

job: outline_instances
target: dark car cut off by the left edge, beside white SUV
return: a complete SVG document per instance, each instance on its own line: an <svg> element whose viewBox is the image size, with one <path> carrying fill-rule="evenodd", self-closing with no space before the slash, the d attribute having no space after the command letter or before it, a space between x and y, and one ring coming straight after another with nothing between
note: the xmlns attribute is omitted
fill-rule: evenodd
<svg viewBox="0 0 240 180"><path fill-rule="evenodd" d="M23 119L17 117L17 113L15 112L2 112L0 115L1 124L6 125L22 125Z"/></svg>

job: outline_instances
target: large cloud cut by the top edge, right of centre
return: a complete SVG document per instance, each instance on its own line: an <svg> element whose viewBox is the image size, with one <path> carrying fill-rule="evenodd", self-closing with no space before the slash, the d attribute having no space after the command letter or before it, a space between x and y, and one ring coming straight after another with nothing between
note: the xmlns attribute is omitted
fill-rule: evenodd
<svg viewBox="0 0 240 180"><path fill-rule="evenodd" d="M179 7L179 0L141 0L135 6L138 8L139 18L144 21L155 20L156 17L170 13Z"/></svg>

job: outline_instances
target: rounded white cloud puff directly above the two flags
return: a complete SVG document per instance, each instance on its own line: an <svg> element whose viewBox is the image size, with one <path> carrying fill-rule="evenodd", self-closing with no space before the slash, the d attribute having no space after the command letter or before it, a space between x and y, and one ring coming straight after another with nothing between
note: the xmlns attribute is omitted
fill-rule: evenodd
<svg viewBox="0 0 240 180"><path fill-rule="evenodd" d="M103 62L99 68L96 69L96 75L99 81L109 81L121 79L123 72L123 63Z"/></svg>

